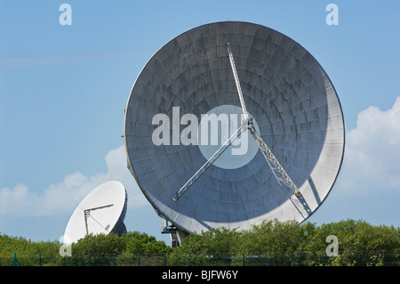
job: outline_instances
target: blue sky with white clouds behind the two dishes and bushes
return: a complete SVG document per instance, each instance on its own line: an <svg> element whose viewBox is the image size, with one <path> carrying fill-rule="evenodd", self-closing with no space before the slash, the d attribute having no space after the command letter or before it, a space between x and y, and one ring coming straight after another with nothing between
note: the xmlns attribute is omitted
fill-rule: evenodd
<svg viewBox="0 0 400 284"><path fill-rule="evenodd" d="M72 25L61 26L60 4ZM325 22L337 4L339 25ZM398 1L0 1L0 233L59 239L85 194L128 191L129 231L161 235L126 169L124 107L148 59L180 33L243 20L313 54L340 97L344 163L308 221L400 226ZM396 101L397 100L397 101Z"/></svg>

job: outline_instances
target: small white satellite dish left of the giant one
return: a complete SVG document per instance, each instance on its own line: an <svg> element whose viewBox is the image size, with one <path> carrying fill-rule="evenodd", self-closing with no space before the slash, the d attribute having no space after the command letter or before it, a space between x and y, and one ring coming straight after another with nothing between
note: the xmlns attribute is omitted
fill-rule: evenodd
<svg viewBox="0 0 400 284"><path fill-rule="evenodd" d="M124 218L127 207L127 193L120 182L102 183L79 203L69 218L64 238L68 243L83 239L89 234L118 235L126 232Z"/></svg>

